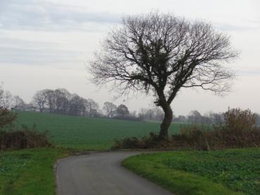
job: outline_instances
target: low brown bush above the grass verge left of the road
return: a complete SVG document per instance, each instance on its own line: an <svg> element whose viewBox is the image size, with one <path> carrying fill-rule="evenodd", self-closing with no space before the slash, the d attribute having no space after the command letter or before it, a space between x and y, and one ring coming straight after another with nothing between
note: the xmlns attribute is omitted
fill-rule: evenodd
<svg viewBox="0 0 260 195"><path fill-rule="evenodd" d="M23 126L22 130L0 131L1 149L24 149L51 146L47 132L37 132L34 125L31 129Z"/></svg>

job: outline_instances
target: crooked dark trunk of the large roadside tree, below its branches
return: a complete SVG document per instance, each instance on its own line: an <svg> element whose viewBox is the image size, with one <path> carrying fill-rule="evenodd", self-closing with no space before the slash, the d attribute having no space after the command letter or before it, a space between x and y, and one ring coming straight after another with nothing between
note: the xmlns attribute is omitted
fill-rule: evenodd
<svg viewBox="0 0 260 195"><path fill-rule="evenodd" d="M159 133L159 139L168 139L168 128L171 125L171 122L173 120L173 111L171 110L171 106L166 103L162 106L164 111L164 118L163 122L161 123L161 130Z"/></svg>

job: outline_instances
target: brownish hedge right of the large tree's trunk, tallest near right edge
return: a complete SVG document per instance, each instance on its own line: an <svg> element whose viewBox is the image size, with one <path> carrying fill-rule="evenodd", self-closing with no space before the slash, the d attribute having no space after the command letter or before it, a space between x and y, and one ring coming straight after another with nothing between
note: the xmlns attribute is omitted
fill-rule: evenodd
<svg viewBox="0 0 260 195"><path fill-rule="evenodd" d="M202 150L260 146L260 128L249 109L230 109L224 118L225 124L215 125L213 130L202 125L182 126L180 135L173 135L173 142Z"/></svg>

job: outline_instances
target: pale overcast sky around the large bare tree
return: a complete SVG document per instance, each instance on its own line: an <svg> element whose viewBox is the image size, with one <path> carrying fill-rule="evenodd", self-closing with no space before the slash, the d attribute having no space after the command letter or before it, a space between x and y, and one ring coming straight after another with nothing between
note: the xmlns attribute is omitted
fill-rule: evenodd
<svg viewBox="0 0 260 195"><path fill-rule="evenodd" d="M30 102L40 89L66 88L103 106L104 101L124 103L131 111L151 107L146 96L124 97L87 79L88 61L109 30L123 15L151 10L172 12L190 20L204 20L230 35L240 58L230 63L237 72L233 92L182 90L173 101L176 115L191 110L223 112L250 108L260 113L260 1L109 1L109 0L0 0L0 82L4 89Z"/></svg>

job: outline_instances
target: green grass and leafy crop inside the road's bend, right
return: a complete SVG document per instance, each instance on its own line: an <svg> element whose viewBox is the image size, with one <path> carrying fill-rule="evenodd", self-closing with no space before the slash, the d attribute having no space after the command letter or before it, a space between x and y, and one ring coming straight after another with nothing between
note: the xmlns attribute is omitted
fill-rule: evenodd
<svg viewBox="0 0 260 195"><path fill-rule="evenodd" d="M123 165L177 194L260 194L260 148L149 153Z"/></svg>

